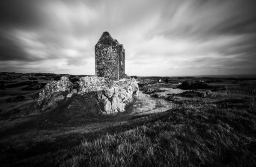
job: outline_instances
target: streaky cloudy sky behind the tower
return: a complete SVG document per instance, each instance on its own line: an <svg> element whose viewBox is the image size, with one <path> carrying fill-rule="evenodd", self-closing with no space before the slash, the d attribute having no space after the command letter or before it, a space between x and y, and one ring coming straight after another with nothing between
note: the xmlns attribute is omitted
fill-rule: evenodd
<svg viewBox="0 0 256 167"><path fill-rule="evenodd" d="M94 74L108 31L125 73L256 73L255 0L1 0L0 71Z"/></svg>

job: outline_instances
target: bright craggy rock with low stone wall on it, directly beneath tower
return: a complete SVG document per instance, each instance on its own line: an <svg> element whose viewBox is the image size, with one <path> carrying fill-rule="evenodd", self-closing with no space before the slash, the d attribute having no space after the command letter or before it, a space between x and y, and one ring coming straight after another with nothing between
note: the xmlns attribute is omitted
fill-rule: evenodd
<svg viewBox="0 0 256 167"><path fill-rule="evenodd" d="M135 79L113 82L104 77L83 77L79 81L82 94L94 91L102 108L102 114L125 111L125 106L138 96L139 86Z"/></svg>

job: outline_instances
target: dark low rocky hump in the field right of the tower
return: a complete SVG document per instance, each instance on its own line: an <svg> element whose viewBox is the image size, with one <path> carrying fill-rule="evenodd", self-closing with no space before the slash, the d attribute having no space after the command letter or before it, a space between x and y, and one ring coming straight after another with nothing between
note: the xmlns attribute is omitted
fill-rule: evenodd
<svg viewBox="0 0 256 167"><path fill-rule="evenodd" d="M182 89L203 89L208 88L208 83L200 80L185 80L178 88Z"/></svg>

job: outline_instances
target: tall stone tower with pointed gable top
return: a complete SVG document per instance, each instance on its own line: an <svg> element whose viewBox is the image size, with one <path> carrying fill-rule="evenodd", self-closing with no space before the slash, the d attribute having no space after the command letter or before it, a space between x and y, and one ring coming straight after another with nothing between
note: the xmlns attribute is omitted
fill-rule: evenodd
<svg viewBox="0 0 256 167"><path fill-rule="evenodd" d="M95 76L125 78L125 49L109 32L103 32L95 45Z"/></svg>

